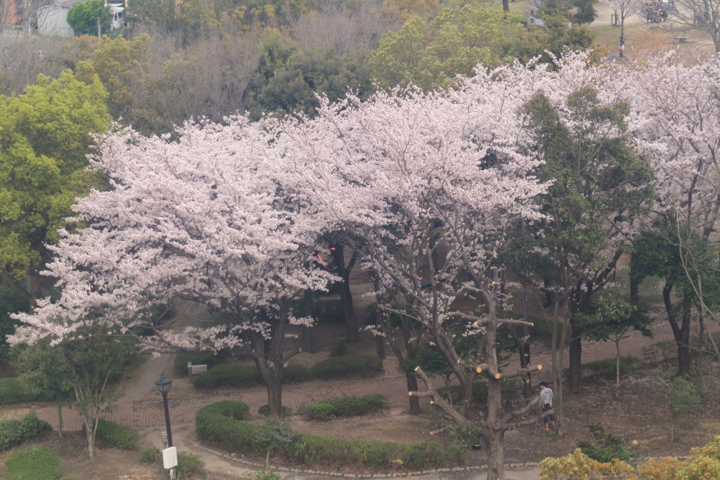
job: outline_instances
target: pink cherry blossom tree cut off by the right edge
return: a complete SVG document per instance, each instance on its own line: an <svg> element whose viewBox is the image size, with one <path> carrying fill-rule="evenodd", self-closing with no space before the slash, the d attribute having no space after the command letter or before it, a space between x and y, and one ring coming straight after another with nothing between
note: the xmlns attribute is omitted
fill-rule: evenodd
<svg viewBox="0 0 720 480"><path fill-rule="evenodd" d="M636 150L649 158L657 201L647 248L636 249L633 287L663 276L662 298L678 345L678 372L690 372L690 323L698 286L712 272L689 266L691 245L716 243L720 209L720 65L707 58L685 67L671 56L635 65L626 76L634 99ZM660 93L662 92L662 93ZM665 252L664 255L658 253ZM690 255L691 256L691 255ZM685 268L684 268L685 267ZM634 293L635 294L635 293ZM677 299L677 300L676 300Z"/></svg>

